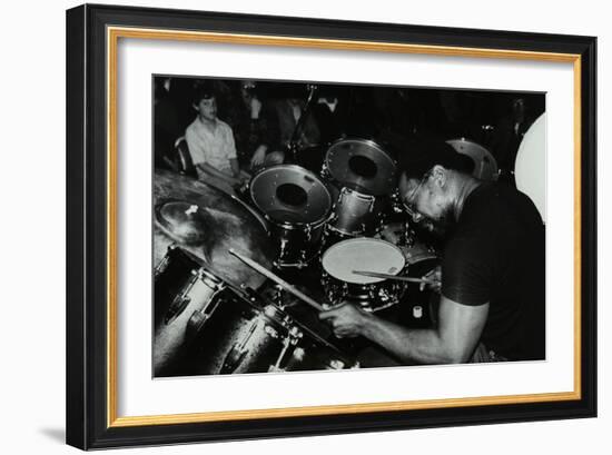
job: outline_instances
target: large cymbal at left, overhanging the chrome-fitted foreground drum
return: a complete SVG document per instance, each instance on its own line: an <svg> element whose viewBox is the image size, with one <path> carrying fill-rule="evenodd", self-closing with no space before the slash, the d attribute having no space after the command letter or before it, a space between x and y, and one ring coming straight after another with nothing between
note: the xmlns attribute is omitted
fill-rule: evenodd
<svg viewBox="0 0 612 455"><path fill-rule="evenodd" d="M167 170L154 176L154 265L171 244L191 253L235 285L258 288L265 278L229 255L234 248L272 268L274 247L265 220L211 185Z"/></svg>

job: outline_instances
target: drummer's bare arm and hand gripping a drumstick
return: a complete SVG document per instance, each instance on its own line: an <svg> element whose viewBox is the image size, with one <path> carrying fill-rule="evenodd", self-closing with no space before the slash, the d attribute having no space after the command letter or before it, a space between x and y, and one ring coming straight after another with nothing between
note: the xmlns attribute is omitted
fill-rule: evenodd
<svg viewBox="0 0 612 455"><path fill-rule="evenodd" d="M438 327L411 329L352 305L320 314L338 336L362 335L401 359L422 364L464 363L481 337L488 304L470 306L441 297Z"/></svg>

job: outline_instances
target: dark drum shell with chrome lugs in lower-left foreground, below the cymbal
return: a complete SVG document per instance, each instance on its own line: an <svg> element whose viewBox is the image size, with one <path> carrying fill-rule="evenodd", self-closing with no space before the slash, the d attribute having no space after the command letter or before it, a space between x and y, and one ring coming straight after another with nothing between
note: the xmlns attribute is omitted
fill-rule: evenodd
<svg viewBox="0 0 612 455"><path fill-rule="evenodd" d="M354 362L172 246L155 270L156 377L348 368ZM186 301L172 311L177 303Z"/></svg>

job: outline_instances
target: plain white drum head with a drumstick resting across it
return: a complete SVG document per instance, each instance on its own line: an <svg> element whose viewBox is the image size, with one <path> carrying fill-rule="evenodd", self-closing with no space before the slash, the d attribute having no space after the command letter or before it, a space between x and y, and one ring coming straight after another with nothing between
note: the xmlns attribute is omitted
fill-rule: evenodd
<svg viewBox="0 0 612 455"><path fill-rule="evenodd" d="M323 268L334 278L345 283L367 285L384 281L353 274L353 270L367 270L397 275L406 260L402 250L388 241L374 238L352 238L330 247L323 255Z"/></svg>

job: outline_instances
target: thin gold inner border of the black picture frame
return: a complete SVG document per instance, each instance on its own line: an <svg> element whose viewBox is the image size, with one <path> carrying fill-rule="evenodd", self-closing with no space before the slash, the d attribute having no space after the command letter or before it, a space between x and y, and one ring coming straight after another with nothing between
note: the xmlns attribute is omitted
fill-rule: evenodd
<svg viewBox="0 0 612 455"><path fill-rule="evenodd" d="M415 53L445 57L477 57L552 62L571 62L574 71L574 389L562 393L445 398L412 402L356 403L351 405L245 409L194 414L119 417L117 415L117 47L120 38L178 40L207 43L298 47L329 50ZM581 57L572 53L481 49L447 46L405 44L297 37L197 32L181 30L107 28L107 425L145 425L228 422L238 419L323 416L373 412L545 403L581 398Z"/></svg>

